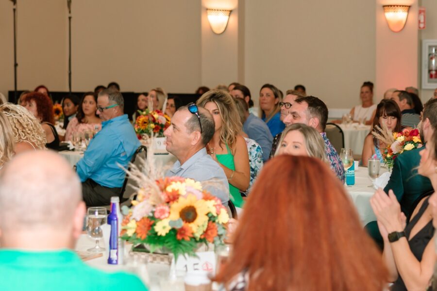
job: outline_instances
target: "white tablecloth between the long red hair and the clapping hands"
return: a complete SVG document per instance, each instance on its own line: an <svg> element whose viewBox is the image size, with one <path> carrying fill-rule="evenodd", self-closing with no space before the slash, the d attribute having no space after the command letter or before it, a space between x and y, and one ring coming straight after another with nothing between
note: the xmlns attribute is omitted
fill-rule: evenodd
<svg viewBox="0 0 437 291"><path fill-rule="evenodd" d="M384 172L387 172L387 169L381 168L380 173L382 174ZM355 171L355 185L345 187L358 211L363 226L370 221L376 220L376 216L370 206L370 197L375 193L375 189L369 187L371 184L372 182L368 177L367 167L358 167L358 171Z"/></svg>

